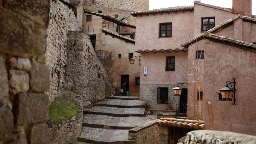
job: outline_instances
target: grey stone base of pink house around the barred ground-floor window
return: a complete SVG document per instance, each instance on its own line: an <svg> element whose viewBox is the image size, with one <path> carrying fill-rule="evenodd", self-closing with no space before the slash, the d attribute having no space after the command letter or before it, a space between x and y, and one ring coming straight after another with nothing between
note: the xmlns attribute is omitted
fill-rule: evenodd
<svg viewBox="0 0 256 144"><path fill-rule="evenodd" d="M177 85L140 85L140 100L150 101L151 109L167 109L167 104L157 103L157 88L164 87L168 88L168 99L171 99L171 106L173 110L176 110L176 105L179 104L179 96L175 96L173 93L173 88Z"/></svg>

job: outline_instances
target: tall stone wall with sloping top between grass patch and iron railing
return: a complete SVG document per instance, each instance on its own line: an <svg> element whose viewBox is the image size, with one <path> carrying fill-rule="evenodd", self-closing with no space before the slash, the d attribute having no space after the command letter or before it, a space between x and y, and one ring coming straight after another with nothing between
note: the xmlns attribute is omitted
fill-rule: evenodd
<svg viewBox="0 0 256 144"><path fill-rule="evenodd" d="M83 97L87 106L111 94L107 72L97 57L88 35L81 31L69 31L66 85Z"/></svg>

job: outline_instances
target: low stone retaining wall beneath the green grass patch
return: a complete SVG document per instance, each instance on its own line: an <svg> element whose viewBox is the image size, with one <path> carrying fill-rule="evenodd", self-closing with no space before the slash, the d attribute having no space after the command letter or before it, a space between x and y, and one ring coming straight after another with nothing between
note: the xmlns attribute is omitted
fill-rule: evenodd
<svg viewBox="0 0 256 144"><path fill-rule="evenodd" d="M77 116L74 116L69 120L62 121L59 125L51 125L50 122L47 122L48 143L69 144L77 141L77 137L81 133L83 122L83 98L77 96L76 100L80 109Z"/></svg>

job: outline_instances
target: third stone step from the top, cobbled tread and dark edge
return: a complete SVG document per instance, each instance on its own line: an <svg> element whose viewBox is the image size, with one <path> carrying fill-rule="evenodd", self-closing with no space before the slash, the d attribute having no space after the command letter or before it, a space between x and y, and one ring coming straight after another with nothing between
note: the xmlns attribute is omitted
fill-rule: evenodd
<svg viewBox="0 0 256 144"><path fill-rule="evenodd" d="M84 109L83 113L96 114L96 115L109 115L109 116L145 116L144 108L117 108L109 106L95 106L91 109Z"/></svg>

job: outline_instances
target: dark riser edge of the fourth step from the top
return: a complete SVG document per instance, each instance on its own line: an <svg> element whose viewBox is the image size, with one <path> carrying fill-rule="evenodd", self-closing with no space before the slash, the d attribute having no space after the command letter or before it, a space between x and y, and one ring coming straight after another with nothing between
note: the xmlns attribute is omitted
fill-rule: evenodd
<svg viewBox="0 0 256 144"><path fill-rule="evenodd" d="M92 124L87 122L82 122L83 127L93 127L101 129L132 129L137 126L115 126L115 125L103 125L103 124Z"/></svg>

